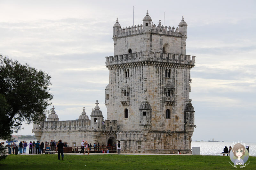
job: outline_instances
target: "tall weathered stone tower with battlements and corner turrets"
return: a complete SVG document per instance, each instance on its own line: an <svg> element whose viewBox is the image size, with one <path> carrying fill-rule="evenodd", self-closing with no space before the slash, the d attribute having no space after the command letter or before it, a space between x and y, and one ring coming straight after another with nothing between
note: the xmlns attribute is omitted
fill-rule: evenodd
<svg viewBox="0 0 256 170"><path fill-rule="evenodd" d="M191 153L194 108L189 99L190 69L186 55L187 23L179 27L113 26L114 55L106 57L107 119L117 120L116 140L124 152Z"/></svg>

